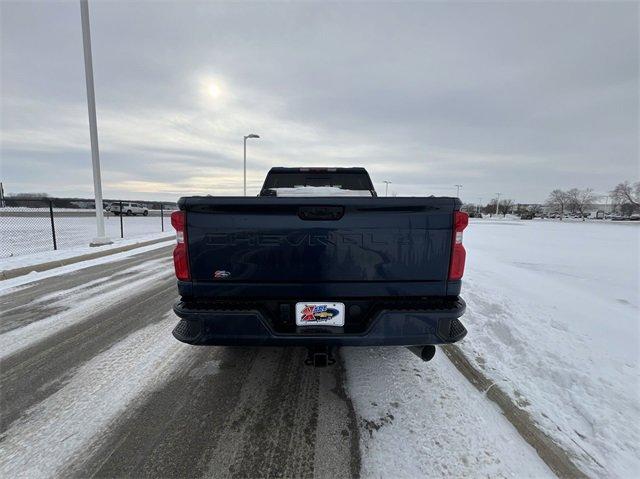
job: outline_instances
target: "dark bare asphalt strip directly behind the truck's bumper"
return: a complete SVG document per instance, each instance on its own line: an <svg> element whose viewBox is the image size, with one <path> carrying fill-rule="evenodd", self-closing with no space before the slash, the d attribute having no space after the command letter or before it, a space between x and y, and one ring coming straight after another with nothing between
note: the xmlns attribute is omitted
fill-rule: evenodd
<svg viewBox="0 0 640 479"><path fill-rule="evenodd" d="M340 367L309 368L301 348L186 347L188 370L65 476L359 476L359 432Z"/></svg>

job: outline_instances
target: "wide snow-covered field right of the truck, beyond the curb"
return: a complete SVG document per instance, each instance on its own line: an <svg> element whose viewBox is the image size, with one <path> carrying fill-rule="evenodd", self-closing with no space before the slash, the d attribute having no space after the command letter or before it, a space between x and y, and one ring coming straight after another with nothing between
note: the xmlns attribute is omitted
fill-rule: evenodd
<svg viewBox="0 0 640 479"><path fill-rule="evenodd" d="M640 225L471 220L463 351L593 475L640 471Z"/></svg>

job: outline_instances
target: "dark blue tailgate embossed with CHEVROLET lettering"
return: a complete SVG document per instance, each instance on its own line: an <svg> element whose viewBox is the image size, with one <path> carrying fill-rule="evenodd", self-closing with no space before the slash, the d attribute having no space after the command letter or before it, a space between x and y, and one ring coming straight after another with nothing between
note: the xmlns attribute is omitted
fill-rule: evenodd
<svg viewBox="0 0 640 479"><path fill-rule="evenodd" d="M194 283L440 282L443 288L459 206L454 198L180 202Z"/></svg>

